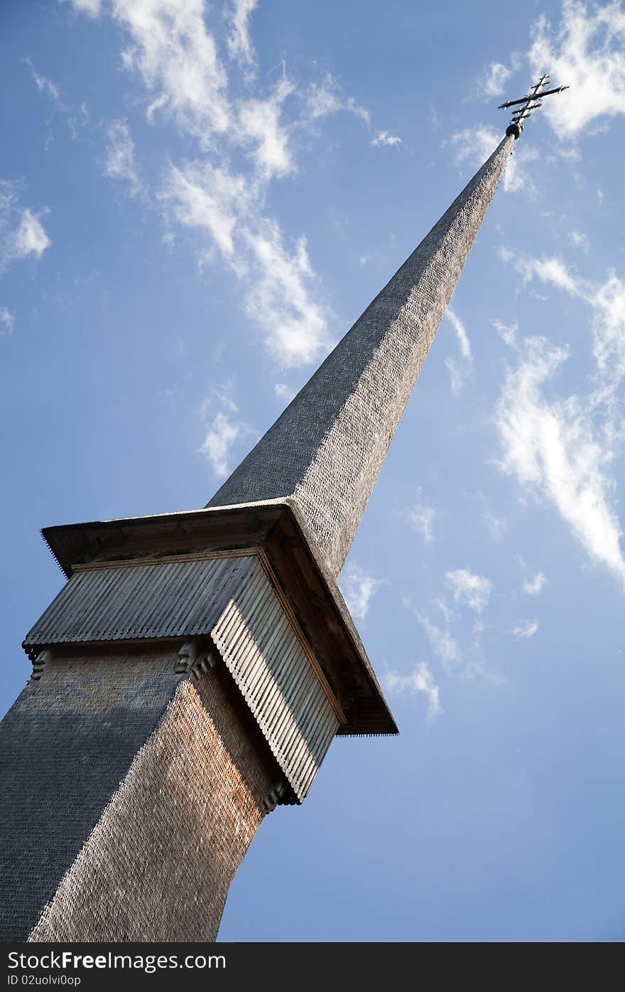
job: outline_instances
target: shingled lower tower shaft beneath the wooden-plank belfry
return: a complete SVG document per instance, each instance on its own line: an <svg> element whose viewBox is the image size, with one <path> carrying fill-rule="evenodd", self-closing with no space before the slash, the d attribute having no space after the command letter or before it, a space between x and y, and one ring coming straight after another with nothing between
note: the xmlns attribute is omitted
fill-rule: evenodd
<svg viewBox="0 0 625 992"><path fill-rule="evenodd" d="M0 724L4 939L214 940L276 768L228 674L57 649Z"/></svg>

